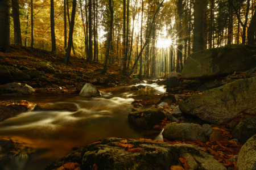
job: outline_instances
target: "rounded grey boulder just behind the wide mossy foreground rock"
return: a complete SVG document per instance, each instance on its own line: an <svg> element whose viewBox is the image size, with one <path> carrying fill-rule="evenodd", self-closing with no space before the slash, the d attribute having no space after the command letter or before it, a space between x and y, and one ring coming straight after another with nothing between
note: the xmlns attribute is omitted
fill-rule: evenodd
<svg viewBox="0 0 256 170"><path fill-rule="evenodd" d="M163 131L163 137L172 141L200 141L205 142L202 126L198 124L167 124Z"/></svg>

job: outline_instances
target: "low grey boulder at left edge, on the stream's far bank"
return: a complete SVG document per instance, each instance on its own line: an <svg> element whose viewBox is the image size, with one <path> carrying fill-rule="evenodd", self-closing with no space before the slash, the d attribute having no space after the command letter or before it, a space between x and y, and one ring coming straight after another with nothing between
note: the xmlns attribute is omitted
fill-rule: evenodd
<svg viewBox="0 0 256 170"><path fill-rule="evenodd" d="M27 84L20 83L8 83L0 87L0 94L22 94L22 95L31 95L35 92L35 90L28 86Z"/></svg>

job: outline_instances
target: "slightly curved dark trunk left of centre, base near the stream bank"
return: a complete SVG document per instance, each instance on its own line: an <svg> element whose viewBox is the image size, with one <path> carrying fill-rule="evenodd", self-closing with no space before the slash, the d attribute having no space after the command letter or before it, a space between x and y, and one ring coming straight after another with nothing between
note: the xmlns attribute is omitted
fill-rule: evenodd
<svg viewBox="0 0 256 170"><path fill-rule="evenodd" d="M111 4L112 0L109 0L109 11L110 11L110 21L109 21L109 33L108 33L108 44L106 48L106 55L105 55L105 61L104 61L104 67L101 72L101 74L105 74L106 70L108 69L108 59L109 59L109 54L110 54L110 46L111 46L111 41L112 41L112 29L113 29L113 20L114 20L114 11L113 7ZM114 6L114 4L113 4Z"/></svg>

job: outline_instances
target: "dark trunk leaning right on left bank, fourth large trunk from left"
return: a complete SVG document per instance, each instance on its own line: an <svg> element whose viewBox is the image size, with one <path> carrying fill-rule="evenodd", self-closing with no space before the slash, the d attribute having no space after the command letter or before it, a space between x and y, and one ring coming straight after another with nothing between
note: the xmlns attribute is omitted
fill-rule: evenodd
<svg viewBox="0 0 256 170"><path fill-rule="evenodd" d="M66 65L68 65L70 53L71 53L71 46L72 46L72 40L73 40L73 30L75 25L75 15L76 15L76 0L73 0L73 6L72 6L72 13L71 13L71 23L69 24L69 34L68 34L68 48L67 53L65 54L64 62Z"/></svg>

